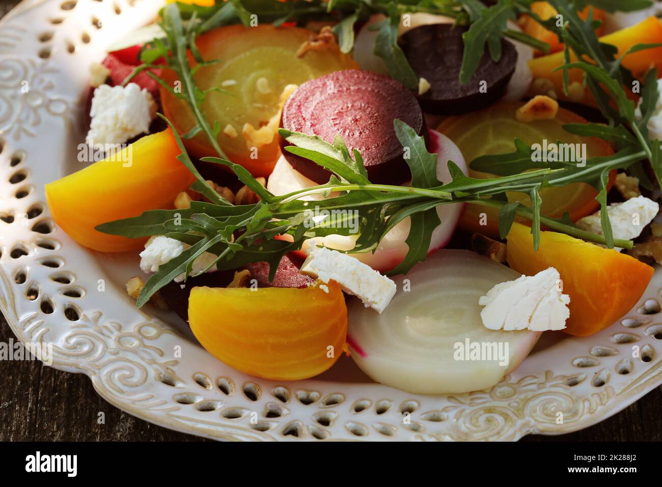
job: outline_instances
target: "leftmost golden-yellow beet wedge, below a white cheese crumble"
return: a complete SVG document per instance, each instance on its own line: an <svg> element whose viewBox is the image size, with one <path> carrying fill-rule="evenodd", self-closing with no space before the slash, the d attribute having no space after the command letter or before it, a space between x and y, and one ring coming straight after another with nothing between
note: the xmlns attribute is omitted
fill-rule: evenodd
<svg viewBox="0 0 662 487"><path fill-rule="evenodd" d="M150 209L171 209L193 174L177 160L181 150L170 129L147 135L104 160L46 184L46 201L56 221L77 243L102 252L142 248L146 239L127 239L95 230L97 225L137 217Z"/></svg>

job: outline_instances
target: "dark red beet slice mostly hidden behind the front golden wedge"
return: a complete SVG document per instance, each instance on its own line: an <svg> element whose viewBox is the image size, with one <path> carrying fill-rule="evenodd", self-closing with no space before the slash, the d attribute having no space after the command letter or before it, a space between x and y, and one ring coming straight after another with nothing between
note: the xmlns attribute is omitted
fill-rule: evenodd
<svg viewBox="0 0 662 487"><path fill-rule="evenodd" d="M299 272L303 259L293 254L286 254L281 259L273 281L269 281L269 264L267 262L256 262L248 264L250 279L258 282L258 288L305 288L312 284L314 279ZM167 307L175 311L184 321L189 321L189 296L191 290L196 286L207 286L208 288L224 288L234 278L234 272L241 269L216 270L206 272L201 276L188 278L186 282L169 282L161 288L161 297L166 301Z"/></svg>

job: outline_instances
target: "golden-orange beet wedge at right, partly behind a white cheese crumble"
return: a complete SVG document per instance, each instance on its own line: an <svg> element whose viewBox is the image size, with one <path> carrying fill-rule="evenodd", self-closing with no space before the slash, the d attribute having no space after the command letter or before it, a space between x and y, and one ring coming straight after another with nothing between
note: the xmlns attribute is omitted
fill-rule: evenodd
<svg viewBox="0 0 662 487"><path fill-rule="evenodd" d="M653 277L653 268L634 257L563 233L541 232L534 250L530 227L513 223L508 233L508 264L527 276L548 267L561 274L570 296L565 333L586 337L628 313Z"/></svg>

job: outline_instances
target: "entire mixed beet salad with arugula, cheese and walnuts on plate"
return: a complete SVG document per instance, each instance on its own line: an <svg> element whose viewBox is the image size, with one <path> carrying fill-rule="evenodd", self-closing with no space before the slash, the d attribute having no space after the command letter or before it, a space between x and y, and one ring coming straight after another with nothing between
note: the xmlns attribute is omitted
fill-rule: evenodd
<svg viewBox="0 0 662 487"><path fill-rule="evenodd" d="M46 197L232 368L483 390L662 264L661 70L648 0L178 1L89 66Z"/></svg>

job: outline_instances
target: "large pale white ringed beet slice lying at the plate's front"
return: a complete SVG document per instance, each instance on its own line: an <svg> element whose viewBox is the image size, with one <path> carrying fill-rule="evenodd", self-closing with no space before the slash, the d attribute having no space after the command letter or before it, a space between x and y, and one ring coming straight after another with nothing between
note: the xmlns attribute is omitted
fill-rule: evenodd
<svg viewBox="0 0 662 487"><path fill-rule="evenodd" d="M469 250L440 250L397 276L398 291L381 313L348 303L352 358L377 382L412 394L459 394L494 386L515 370L542 332L483 326L478 299L518 272ZM410 290L404 289L408 280ZM455 360L456 343L508 344L507 364Z"/></svg>

